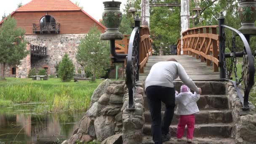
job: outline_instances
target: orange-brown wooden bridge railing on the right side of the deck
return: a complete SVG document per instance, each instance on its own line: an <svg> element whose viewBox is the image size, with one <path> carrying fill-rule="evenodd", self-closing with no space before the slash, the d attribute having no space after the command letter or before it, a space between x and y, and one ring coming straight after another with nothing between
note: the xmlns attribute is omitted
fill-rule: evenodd
<svg viewBox="0 0 256 144"><path fill-rule="evenodd" d="M196 57L196 59L201 59L202 62L206 59L207 65L210 65L210 61L212 61L214 72L219 71L219 35L217 34L217 27L217 25L195 27L187 29L182 33L183 53L190 56L192 55Z"/></svg>

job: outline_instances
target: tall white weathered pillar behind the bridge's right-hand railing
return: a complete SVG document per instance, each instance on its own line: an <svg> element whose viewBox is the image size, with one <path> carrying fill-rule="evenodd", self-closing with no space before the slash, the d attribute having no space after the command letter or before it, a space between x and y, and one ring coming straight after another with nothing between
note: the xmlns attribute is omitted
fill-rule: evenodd
<svg viewBox="0 0 256 144"><path fill-rule="evenodd" d="M189 0L181 0L181 55L183 54L182 32L189 28Z"/></svg>

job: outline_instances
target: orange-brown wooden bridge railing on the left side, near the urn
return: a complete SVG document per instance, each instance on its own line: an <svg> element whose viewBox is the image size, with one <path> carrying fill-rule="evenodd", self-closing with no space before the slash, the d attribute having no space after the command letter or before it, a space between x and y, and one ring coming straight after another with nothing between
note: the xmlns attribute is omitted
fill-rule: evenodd
<svg viewBox="0 0 256 144"><path fill-rule="evenodd" d="M147 26L140 27L140 42L139 42L139 69L140 73L144 73L144 67L146 66L149 56L152 56L152 39L149 37L150 32ZM123 40L115 41L115 48L118 54L128 53L128 44L131 35L123 35ZM125 62L125 61L124 61Z"/></svg>

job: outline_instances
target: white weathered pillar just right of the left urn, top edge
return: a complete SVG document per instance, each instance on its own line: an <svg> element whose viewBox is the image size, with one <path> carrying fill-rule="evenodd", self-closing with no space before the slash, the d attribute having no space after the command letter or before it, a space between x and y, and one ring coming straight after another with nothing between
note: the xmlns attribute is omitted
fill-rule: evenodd
<svg viewBox="0 0 256 144"><path fill-rule="evenodd" d="M149 27L149 0L141 0L141 25Z"/></svg>

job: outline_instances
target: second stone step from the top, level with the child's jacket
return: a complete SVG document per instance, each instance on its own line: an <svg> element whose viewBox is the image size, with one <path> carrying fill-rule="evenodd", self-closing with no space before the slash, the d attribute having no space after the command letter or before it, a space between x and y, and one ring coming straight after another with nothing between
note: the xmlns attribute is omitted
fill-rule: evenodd
<svg viewBox="0 0 256 144"><path fill-rule="evenodd" d="M148 98L144 96L144 110L149 110ZM201 95L197 101L197 107L200 110L207 109L228 109L228 100L225 95ZM161 111L165 111L165 104L162 102Z"/></svg>

